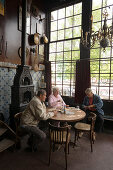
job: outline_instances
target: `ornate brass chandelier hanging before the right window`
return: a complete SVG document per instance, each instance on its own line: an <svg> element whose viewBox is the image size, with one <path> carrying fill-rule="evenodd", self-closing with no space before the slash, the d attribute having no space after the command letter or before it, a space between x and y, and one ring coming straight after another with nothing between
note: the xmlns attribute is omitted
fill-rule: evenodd
<svg viewBox="0 0 113 170"><path fill-rule="evenodd" d="M107 3L106 3L107 6ZM104 24L103 27L98 31L94 32L92 30L93 16L91 16L91 28L89 32L85 33L85 38L83 37L83 30L81 31L81 44L83 44L86 48L92 48L96 42L100 43L100 46L104 49L110 45L112 45L113 38L113 7L112 7L112 25L110 27L107 26L108 12L105 7L103 12ZM88 38L90 39L88 41Z"/></svg>

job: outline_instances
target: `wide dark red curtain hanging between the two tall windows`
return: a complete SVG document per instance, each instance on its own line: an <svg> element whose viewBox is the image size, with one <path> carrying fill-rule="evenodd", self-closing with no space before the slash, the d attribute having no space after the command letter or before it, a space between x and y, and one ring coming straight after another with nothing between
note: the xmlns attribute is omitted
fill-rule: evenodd
<svg viewBox="0 0 113 170"><path fill-rule="evenodd" d="M90 61L87 59L77 60L75 75L75 103L82 104L86 88L91 87Z"/></svg>

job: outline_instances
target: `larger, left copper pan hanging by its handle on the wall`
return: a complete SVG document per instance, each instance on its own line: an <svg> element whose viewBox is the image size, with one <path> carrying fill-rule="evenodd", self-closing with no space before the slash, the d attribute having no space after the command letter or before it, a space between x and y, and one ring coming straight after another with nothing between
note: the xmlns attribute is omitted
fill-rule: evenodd
<svg viewBox="0 0 113 170"><path fill-rule="evenodd" d="M37 33L37 23L36 23L36 33L30 34L28 37L29 45L38 45L39 44L39 33Z"/></svg>

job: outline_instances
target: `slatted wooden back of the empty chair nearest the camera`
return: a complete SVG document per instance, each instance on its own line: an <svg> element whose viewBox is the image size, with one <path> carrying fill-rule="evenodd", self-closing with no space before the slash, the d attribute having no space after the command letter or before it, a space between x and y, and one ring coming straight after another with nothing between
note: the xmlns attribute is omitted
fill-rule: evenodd
<svg viewBox="0 0 113 170"><path fill-rule="evenodd" d="M70 126L57 127L49 123L50 141L55 144L64 144L69 142Z"/></svg>

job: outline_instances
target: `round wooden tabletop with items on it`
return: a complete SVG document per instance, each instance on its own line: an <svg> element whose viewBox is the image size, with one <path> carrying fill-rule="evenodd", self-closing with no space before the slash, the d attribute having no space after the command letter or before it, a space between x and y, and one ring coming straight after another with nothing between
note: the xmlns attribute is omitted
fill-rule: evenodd
<svg viewBox="0 0 113 170"><path fill-rule="evenodd" d="M51 117L51 120L60 122L76 122L84 119L86 113L83 110L77 108L68 108L69 113L58 112L55 116Z"/></svg>

